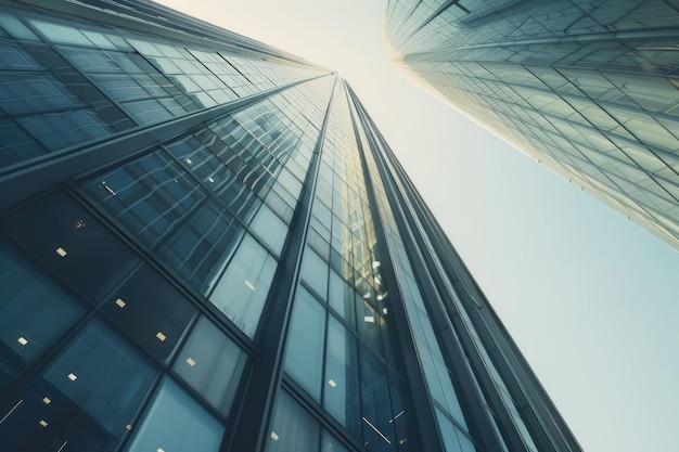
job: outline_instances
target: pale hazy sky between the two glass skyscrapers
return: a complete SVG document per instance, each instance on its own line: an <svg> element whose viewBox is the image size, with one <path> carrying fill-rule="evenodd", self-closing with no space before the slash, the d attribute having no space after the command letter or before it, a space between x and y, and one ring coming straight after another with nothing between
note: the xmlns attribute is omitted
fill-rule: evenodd
<svg viewBox="0 0 679 452"><path fill-rule="evenodd" d="M164 0L355 89L588 452L677 450L679 253L401 77L386 0Z"/></svg>

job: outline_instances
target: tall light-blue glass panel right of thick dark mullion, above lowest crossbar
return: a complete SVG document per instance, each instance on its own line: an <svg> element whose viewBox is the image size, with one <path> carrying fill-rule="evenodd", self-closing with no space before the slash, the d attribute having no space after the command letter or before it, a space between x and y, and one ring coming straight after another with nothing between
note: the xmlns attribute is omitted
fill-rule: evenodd
<svg viewBox="0 0 679 452"><path fill-rule="evenodd" d="M287 333L285 372L316 400L321 398L325 309L297 287Z"/></svg>

